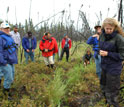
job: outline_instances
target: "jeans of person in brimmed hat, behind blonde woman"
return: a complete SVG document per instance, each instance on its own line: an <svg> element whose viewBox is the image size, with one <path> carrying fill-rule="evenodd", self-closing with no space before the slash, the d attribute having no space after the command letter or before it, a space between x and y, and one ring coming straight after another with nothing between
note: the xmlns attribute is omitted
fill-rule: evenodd
<svg viewBox="0 0 124 107"><path fill-rule="evenodd" d="M97 58L95 58L95 64L96 64L96 74L98 76L98 78L100 79L101 78L101 72L102 72L102 69L101 69L101 56L98 55Z"/></svg>

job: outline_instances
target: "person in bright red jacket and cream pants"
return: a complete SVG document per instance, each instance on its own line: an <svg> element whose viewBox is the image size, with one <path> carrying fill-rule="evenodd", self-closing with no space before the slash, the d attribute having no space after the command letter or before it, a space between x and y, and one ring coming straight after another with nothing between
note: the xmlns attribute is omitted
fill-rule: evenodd
<svg viewBox="0 0 124 107"><path fill-rule="evenodd" d="M49 32L45 33L39 44L39 48L42 51L42 56L44 58L46 66L52 69L54 68L54 45L54 39L51 37L51 33Z"/></svg>

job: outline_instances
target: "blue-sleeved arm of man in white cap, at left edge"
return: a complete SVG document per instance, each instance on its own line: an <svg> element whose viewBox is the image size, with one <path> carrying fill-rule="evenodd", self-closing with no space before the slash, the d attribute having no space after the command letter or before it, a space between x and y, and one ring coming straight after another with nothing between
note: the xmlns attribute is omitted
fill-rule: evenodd
<svg viewBox="0 0 124 107"><path fill-rule="evenodd" d="M0 38L0 64L6 65L7 61L4 59L3 55L3 43L4 41L2 40L2 38Z"/></svg>

